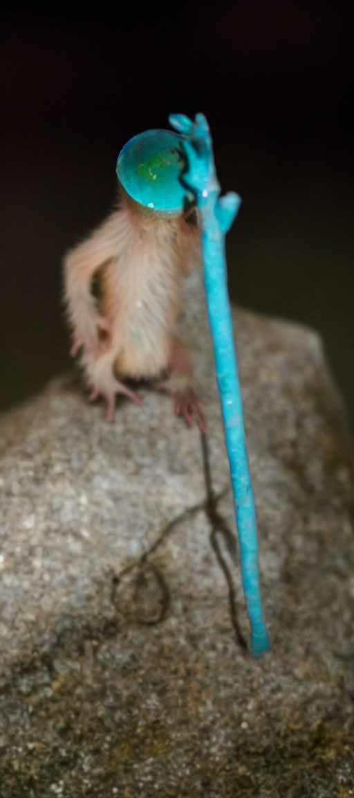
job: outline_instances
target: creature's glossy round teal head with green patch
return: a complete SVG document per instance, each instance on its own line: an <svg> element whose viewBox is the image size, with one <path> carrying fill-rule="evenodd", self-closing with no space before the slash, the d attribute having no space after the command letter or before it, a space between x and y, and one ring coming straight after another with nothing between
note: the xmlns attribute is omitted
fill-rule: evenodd
<svg viewBox="0 0 354 798"><path fill-rule="evenodd" d="M183 183L187 172L184 136L170 130L147 130L120 151L116 172L128 196L159 215L182 214L195 204Z"/></svg>

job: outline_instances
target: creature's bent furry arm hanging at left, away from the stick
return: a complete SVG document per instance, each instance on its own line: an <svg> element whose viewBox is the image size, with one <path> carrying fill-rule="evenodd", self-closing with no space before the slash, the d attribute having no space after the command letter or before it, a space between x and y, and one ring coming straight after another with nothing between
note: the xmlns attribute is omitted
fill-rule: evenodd
<svg viewBox="0 0 354 798"><path fill-rule="evenodd" d="M119 211L114 211L65 258L65 300L73 328L73 357L82 346L87 354L98 354L100 331L110 333L108 319L100 316L90 289L95 273L116 255L118 220Z"/></svg>

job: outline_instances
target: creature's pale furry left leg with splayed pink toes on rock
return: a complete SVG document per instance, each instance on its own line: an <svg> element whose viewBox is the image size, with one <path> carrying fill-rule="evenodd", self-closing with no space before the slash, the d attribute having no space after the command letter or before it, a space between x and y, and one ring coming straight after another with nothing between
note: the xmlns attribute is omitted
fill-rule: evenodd
<svg viewBox="0 0 354 798"><path fill-rule="evenodd" d="M124 385L124 382L116 379L114 375L115 361L116 350L112 346L98 358L88 358L84 354L81 361L82 365L84 365L88 388L91 389L88 401L96 401L99 397L104 397L107 421L113 421L116 396L119 393L131 399L136 405L143 404L137 393L134 393L127 385Z"/></svg>

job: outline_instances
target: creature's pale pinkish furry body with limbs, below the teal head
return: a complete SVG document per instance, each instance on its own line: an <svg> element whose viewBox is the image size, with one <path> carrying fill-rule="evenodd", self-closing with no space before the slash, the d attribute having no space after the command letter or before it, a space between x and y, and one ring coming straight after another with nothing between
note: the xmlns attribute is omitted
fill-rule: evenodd
<svg viewBox="0 0 354 798"><path fill-rule="evenodd" d="M203 428L191 360L176 336L183 274L201 260L199 229L183 215L161 216L122 192L120 207L65 259L65 298L73 328L72 354L91 399L104 397L112 420L116 395L140 398L124 379L167 380L176 413ZM92 282L100 280L100 299Z"/></svg>

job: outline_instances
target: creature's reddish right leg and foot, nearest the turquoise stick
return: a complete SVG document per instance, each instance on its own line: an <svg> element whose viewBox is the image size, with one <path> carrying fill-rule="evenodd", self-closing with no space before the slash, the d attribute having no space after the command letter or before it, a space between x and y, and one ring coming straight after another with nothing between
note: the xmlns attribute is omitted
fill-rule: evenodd
<svg viewBox="0 0 354 798"><path fill-rule="evenodd" d="M193 385L193 365L187 347L175 338L171 348L170 373L167 380L159 383L161 390L171 393L177 416L183 416L188 427L196 418L201 433L205 433L203 411Z"/></svg>

